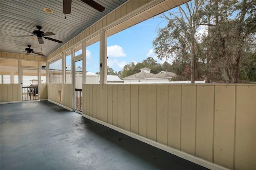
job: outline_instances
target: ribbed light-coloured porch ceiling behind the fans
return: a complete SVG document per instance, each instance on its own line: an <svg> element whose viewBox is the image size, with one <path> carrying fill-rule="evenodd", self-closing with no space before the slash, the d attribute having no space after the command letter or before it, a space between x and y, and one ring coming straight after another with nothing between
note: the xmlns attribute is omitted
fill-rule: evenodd
<svg viewBox="0 0 256 170"><path fill-rule="evenodd" d="M32 45L34 51L42 52L45 56L90 27L103 16L122 5L126 0L95 0L105 7L103 12L98 12L80 0L72 0L71 14L62 13L62 0L0 0L0 50L3 52L20 53L27 45ZM43 11L43 8L53 10L52 14ZM36 26L42 26L42 32L53 32L55 35L48 36L60 40L57 43L44 40L39 44L30 37L14 37L30 35L30 32L38 30Z"/></svg>

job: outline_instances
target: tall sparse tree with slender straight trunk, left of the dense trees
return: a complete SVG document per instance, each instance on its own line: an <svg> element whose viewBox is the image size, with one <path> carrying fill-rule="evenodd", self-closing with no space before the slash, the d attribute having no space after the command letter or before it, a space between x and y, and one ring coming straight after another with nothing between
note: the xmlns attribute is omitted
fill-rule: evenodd
<svg viewBox="0 0 256 170"><path fill-rule="evenodd" d="M196 63L196 30L199 28L201 19L200 8L202 1L195 0L185 5L186 9L178 7L179 12L168 12L162 18L168 21L164 28L159 28L158 36L153 41L154 52L159 59L180 58L190 59L190 79L194 83L195 76L199 79Z"/></svg>

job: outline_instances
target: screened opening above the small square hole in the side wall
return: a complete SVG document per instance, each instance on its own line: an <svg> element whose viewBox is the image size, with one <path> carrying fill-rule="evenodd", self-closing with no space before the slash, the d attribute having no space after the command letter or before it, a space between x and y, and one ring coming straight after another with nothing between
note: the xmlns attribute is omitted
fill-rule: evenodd
<svg viewBox="0 0 256 170"><path fill-rule="evenodd" d="M62 59L49 63L49 83L62 83Z"/></svg>

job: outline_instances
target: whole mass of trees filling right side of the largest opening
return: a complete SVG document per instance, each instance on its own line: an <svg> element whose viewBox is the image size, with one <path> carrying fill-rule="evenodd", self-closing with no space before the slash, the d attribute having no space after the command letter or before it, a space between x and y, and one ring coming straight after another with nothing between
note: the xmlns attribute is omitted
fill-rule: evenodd
<svg viewBox="0 0 256 170"><path fill-rule="evenodd" d="M176 79L255 81L255 0L194 0L163 14L168 24L153 41L159 59L172 58ZM200 28L205 34L199 35ZM254 62L255 63L255 62Z"/></svg>

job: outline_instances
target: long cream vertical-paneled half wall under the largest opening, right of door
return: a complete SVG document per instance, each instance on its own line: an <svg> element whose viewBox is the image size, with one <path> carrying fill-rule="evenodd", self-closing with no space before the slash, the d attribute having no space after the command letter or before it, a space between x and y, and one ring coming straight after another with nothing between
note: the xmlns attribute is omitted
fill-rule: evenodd
<svg viewBox="0 0 256 170"><path fill-rule="evenodd" d="M83 116L229 169L256 169L256 84L83 85Z"/></svg>

